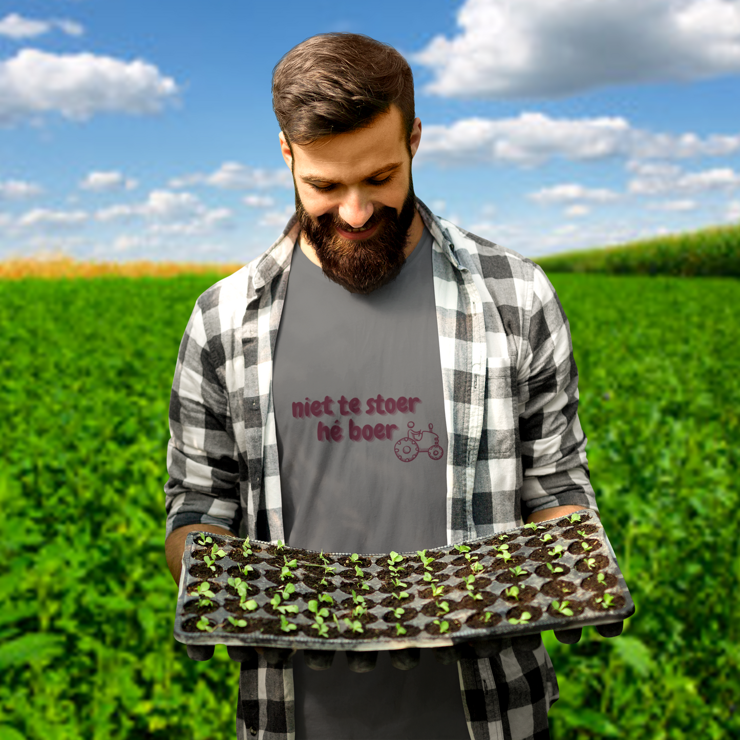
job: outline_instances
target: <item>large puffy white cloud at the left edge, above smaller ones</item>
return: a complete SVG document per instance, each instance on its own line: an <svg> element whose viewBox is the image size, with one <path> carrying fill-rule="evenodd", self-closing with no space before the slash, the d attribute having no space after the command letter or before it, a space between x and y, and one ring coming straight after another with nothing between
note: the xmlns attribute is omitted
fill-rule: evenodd
<svg viewBox="0 0 740 740"><path fill-rule="evenodd" d="M23 49L0 62L0 124L49 112L76 121L101 112L155 113L176 92L172 78L141 59Z"/></svg>

